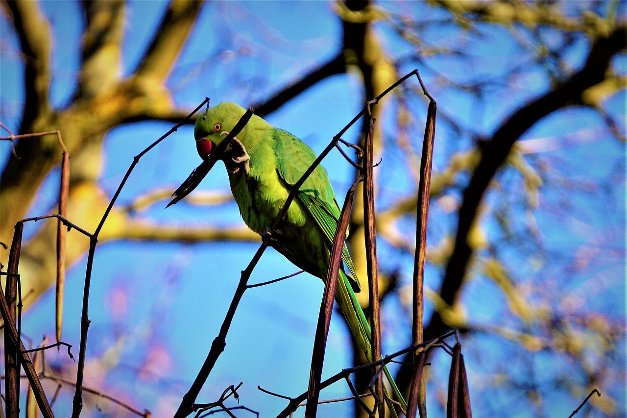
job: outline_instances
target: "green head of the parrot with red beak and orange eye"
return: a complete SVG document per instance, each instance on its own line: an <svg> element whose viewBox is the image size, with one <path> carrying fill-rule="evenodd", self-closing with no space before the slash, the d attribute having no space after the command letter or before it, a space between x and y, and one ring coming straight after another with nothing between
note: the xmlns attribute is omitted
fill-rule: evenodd
<svg viewBox="0 0 627 418"><path fill-rule="evenodd" d="M224 140L245 113L243 107L229 102L223 102L203 112L194 125L198 155L202 159L208 158L211 151Z"/></svg>

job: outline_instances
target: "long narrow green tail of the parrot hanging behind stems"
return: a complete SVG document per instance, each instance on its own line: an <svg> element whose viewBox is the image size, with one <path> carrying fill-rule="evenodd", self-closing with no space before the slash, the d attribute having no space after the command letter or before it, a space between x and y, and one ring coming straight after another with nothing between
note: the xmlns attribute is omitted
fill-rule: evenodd
<svg viewBox="0 0 627 418"><path fill-rule="evenodd" d="M370 342L370 326L366 319L366 315L364 315L364 311L362 311L359 302L357 302L357 296L355 296L355 292L352 291L352 288L349 284L349 279L344 274L343 271L340 270L340 275L337 277L337 289L335 291L335 301L339 304L342 311L344 311L344 316L346 317L346 321L349 324L350 331L355 336L355 340L359 347L364 351L366 358L369 362L372 361L372 345ZM394 392L394 397L396 400L403 405L403 409L407 410L407 403L403 399L403 395L401 391L396 386L396 382L394 382L394 378L390 374L387 367L383 368L383 372L386 375L387 381L392 387L392 391ZM387 394L387 389L384 386L384 390ZM393 416L396 416L396 410L394 409L394 404L392 402L387 402L387 406L389 407Z"/></svg>

